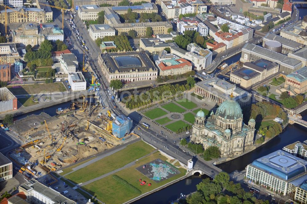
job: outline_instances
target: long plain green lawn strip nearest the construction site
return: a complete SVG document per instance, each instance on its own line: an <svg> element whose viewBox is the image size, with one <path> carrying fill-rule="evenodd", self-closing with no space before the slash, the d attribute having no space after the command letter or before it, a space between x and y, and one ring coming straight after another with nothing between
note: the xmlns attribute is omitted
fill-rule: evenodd
<svg viewBox="0 0 307 204"><path fill-rule="evenodd" d="M93 164L68 174L65 176L65 178L75 183L82 183L111 172L115 169L121 168L126 164L145 156L153 150L154 148L150 145L143 141L138 141L128 145L125 149L122 149L119 152L116 152L108 157L104 157Z"/></svg>

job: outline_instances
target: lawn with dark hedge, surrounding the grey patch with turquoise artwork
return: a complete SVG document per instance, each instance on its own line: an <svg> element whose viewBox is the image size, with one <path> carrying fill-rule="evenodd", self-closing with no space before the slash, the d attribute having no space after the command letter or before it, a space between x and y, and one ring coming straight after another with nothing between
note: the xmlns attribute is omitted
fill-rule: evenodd
<svg viewBox="0 0 307 204"><path fill-rule="evenodd" d="M138 161L137 164L134 164L129 168L123 169L122 171L116 172L115 174L126 180L134 187L138 188L142 192L142 194L185 175L186 170L183 168L179 168L179 174L169 179L165 179L159 183L156 183L155 181L149 179L135 169L155 159L161 159L163 161L167 160L166 157L162 156L159 152L156 152L141 159L140 161ZM139 179L145 180L146 185L141 186L140 182L138 181ZM151 183L152 185L148 186L147 183ZM112 178L112 175L90 183L82 188L90 193L93 193L92 195L97 196L99 200L105 203L124 203L140 195L123 186L121 183L117 182L115 179Z"/></svg>

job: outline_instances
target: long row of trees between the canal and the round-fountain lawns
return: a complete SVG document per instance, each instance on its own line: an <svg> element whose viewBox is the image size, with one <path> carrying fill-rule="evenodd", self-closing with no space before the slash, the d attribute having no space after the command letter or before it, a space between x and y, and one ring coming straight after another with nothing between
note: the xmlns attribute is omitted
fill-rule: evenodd
<svg viewBox="0 0 307 204"><path fill-rule="evenodd" d="M126 107L130 110L134 108L139 108L145 105L149 105L153 102L157 102L160 100L171 99L172 97L180 97L183 96L183 92L186 90L190 90L191 87L188 84L185 85L170 85L165 84L162 86L158 86L155 89L150 89L146 93L142 93L140 95L131 95L126 96L123 101L126 101Z"/></svg>

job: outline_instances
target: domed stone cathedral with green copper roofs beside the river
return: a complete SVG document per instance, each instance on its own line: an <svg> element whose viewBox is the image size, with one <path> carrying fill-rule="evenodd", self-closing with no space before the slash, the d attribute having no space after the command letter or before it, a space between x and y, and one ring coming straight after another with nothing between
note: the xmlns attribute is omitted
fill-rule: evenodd
<svg viewBox="0 0 307 204"><path fill-rule="evenodd" d="M255 120L243 123L242 109L238 102L224 101L214 114L206 119L203 111L198 111L192 126L192 141L202 144L204 149L217 146L221 157L241 155L254 144Z"/></svg>

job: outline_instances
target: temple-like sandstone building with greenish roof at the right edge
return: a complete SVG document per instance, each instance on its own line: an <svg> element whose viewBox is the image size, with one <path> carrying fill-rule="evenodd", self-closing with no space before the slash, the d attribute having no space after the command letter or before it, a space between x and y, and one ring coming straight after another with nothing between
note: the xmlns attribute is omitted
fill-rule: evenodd
<svg viewBox="0 0 307 204"><path fill-rule="evenodd" d="M307 67L304 66L299 70L286 76L285 88L290 87L296 94L307 92Z"/></svg>

